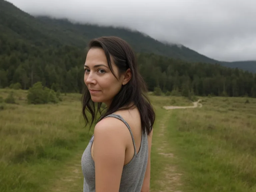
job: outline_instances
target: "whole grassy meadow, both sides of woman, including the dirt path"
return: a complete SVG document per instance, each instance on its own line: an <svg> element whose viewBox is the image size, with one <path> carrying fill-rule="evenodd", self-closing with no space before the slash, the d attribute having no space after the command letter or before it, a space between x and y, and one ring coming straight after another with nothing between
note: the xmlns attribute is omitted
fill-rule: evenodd
<svg viewBox="0 0 256 192"><path fill-rule="evenodd" d="M0 109L0 192L82 191L81 155L93 134L81 115L81 95L58 104L28 105L27 91ZM256 99L149 95L156 110L151 191L256 191Z"/></svg>

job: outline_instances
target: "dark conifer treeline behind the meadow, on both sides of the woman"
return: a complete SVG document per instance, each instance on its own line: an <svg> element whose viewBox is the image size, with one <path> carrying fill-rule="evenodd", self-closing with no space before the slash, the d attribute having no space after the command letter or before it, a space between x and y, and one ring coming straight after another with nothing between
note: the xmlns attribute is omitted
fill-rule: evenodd
<svg viewBox="0 0 256 192"><path fill-rule="evenodd" d="M72 46L31 46L0 36L0 87L20 83L29 89L38 81L61 92L82 92L85 50ZM155 54L138 53L140 73L149 91L189 92L207 96L256 97L256 75L217 64L188 63Z"/></svg>

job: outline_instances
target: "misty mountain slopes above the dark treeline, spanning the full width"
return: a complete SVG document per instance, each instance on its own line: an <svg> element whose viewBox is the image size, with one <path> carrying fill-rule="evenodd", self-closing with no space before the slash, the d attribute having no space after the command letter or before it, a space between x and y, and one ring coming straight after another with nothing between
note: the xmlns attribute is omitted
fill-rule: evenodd
<svg viewBox="0 0 256 192"><path fill-rule="evenodd" d="M130 43L136 52L154 53L187 62L219 63L256 72L255 62L217 61L183 45L163 43L126 28L78 24L46 16L34 17L5 0L0 0L0 27L0 36L19 39L37 47L71 45L85 48L92 38L115 35Z"/></svg>

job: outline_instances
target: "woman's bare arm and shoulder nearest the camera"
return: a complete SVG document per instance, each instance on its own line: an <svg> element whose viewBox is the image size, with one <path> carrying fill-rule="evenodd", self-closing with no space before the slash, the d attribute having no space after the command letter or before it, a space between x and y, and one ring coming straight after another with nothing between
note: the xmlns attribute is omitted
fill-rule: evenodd
<svg viewBox="0 0 256 192"><path fill-rule="evenodd" d="M125 126L113 118L100 121L94 129L95 191L118 192L125 159Z"/></svg>

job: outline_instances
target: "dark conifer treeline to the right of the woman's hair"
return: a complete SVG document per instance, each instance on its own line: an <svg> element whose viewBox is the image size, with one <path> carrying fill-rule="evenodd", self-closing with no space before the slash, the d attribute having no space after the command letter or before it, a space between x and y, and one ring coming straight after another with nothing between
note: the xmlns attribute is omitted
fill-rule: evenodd
<svg viewBox="0 0 256 192"><path fill-rule="evenodd" d="M160 87L187 96L256 97L256 74L219 64L188 63L154 54L138 54L140 72L150 91Z"/></svg>

